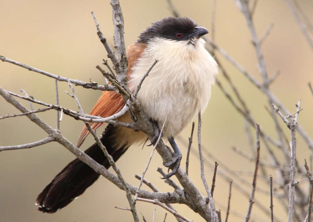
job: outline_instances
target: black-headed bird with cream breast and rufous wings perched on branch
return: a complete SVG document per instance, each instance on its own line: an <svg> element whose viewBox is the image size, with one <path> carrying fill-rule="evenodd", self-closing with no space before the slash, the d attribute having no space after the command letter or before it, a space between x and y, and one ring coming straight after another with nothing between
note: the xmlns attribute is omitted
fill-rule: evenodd
<svg viewBox="0 0 313 222"><path fill-rule="evenodd" d="M205 41L200 38L205 34L208 34L208 30L190 18L168 17L152 23L127 49L127 83L132 92L151 64L158 60L143 81L137 99L158 129L157 132L166 120L162 136L168 139L174 152L172 161L164 164L173 168L165 178L176 173L182 159L174 138L195 114L203 113L206 109L211 97L211 86L218 74L218 65L205 49ZM90 115L108 117L120 111L124 105L125 101L120 94L104 91ZM129 112L117 120L132 122ZM91 127L95 130L101 125L106 127L100 140L114 161L132 144L144 142L147 138L141 131L107 123L93 123ZM84 126L77 147L82 145L88 134ZM110 167L97 143L85 150L85 153L105 168ZM64 208L83 194L99 176L88 165L74 159L38 195L38 210L55 213Z"/></svg>

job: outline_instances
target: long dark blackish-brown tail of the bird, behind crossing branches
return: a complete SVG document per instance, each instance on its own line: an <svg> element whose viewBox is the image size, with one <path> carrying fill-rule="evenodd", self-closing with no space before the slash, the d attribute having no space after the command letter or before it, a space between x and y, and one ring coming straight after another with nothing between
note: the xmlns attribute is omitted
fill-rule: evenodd
<svg viewBox="0 0 313 222"><path fill-rule="evenodd" d="M122 146L115 148L112 139L114 131L115 127L112 125L107 126L100 140L105 145L114 161L117 161L128 147ZM105 166L105 168L110 167L109 161L104 156L97 143L88 148L85 153ZM51 183L38 195L36 201L39 205L38 210L43 213L55 213L58 209L65 207L76 197L83 194L99 176L100 175L87 164L81 162L79 159L74 159L56 175Z"/></svg>

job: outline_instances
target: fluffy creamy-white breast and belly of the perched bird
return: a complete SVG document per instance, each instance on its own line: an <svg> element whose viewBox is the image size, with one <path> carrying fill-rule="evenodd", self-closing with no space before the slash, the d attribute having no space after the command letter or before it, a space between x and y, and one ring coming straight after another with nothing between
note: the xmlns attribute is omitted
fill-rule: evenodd
<svg viewBox="0 0 313 222"><path fill-rule="evenodd" d="M156 38L132 67L129 84L134 90L154 60L159 60L144 80L138 99L160 127L168 115L164 137L175 137L208 104L218 70L204 44L203 39L193 46L186 41Z"/></svg>

